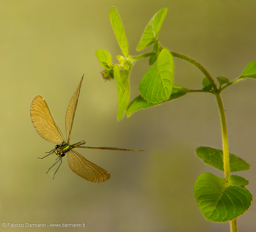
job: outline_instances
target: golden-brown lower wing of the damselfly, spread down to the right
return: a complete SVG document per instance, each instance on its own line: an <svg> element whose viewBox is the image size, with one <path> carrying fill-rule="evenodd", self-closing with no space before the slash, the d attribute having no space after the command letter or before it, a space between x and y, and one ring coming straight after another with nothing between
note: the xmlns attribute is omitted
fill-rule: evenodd
<svg viewBox="0 0 256 232"><path fill-rule="evenodd" d="M67 154L68 166L76 175L94 183L104 182L110 178L106 170L85 159L78 152L69 150Z"/></svg>

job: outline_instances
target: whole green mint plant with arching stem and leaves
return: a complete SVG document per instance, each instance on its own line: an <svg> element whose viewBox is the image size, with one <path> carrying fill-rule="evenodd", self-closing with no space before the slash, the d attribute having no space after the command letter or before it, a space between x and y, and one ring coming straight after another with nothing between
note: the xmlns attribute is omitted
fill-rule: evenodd
<svg viewBox="0 0 256 232"><path fill-rule="evenodd" d="M97 50L96 56L104 69L102 77L105 80L116 80L118 96L117 120L122 119L125 112L127 118L129 118L140 109L166 103L187 93L204 92L211 93L216 97L221 119L223 150L199 147L196 149L195 154L205 164L223 171L225 178L215 176L209 172L200 174L194 184L194 196L207 221L230 221L230 231L235 232L237 231L236 219L251 206L252 194L245 188L249 181L237 175L230 175L230 172L248 170L250 165L238 156L228 152L227 124L220 93L244 78L256 78L256 61L249 63L241 76L234 81L230 82L228 78L223 76L216 77L219 82L217 86L215 80L200 63L186 55L169 51L160 45L157 34L163 24L166 13L167 8L163 8L150 19L137 46L137 50L140 51L153 44L152 52L134 57L129 55L128 42L122 21L116 8L112 7L110 9L110 22L123 56L117 55L118 63L113 64L108 51L104 49ZM140 95L129 104L130 70L136 61L146 57L149 57L149 65L152 66L141 79L139 84ZM193 64L204 74L202 89L190 90L173 82L173 57Z"/></svg>

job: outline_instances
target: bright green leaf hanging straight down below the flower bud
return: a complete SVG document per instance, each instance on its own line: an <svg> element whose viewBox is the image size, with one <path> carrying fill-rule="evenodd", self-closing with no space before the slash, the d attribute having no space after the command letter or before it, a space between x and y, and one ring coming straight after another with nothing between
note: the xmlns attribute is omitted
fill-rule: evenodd
<svg viewBox="0 0 256 232"><path fill-rule="evenodd" d="M127 78L127 72L124 70L120 70L120 77L123 83L124 91L117 83L116 84L117 96L118 96L117 120L120 120L123 118L124 113L129 104L129 98L130 98L129 79Z"/></svg>

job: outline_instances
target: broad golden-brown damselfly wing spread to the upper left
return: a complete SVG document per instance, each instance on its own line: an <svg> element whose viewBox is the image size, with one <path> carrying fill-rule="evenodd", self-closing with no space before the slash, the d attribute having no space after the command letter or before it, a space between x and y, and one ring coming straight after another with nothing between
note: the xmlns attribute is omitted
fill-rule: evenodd
<svg viewBox="0 0 256 232"><path fill-rule="evenodd" d="M60 144L65 142L59 127L42 96L36 96L30 105L30 117L37 133L45 140Z"/></svg>

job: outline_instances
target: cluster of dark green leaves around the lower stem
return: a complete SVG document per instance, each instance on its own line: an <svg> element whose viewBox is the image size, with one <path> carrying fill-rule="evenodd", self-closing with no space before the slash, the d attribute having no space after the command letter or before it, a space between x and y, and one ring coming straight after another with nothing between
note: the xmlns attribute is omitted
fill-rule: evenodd
<svg viewBox="0 0 256 232"><path fill-rule="evenodd" d="M199 147L196 156L221 171L223 151L210 147ZM229 153L230 172L248 170L250 165L243 159ZM194 184L194 195L198 207L207 221L231 221L251 206L252 194L244 188L249 181L237 175L229 176L228 182L212 173L200 174ZM227 186L228 187L227 187ZM229 186L235 185L235 186Z"/></svg>

